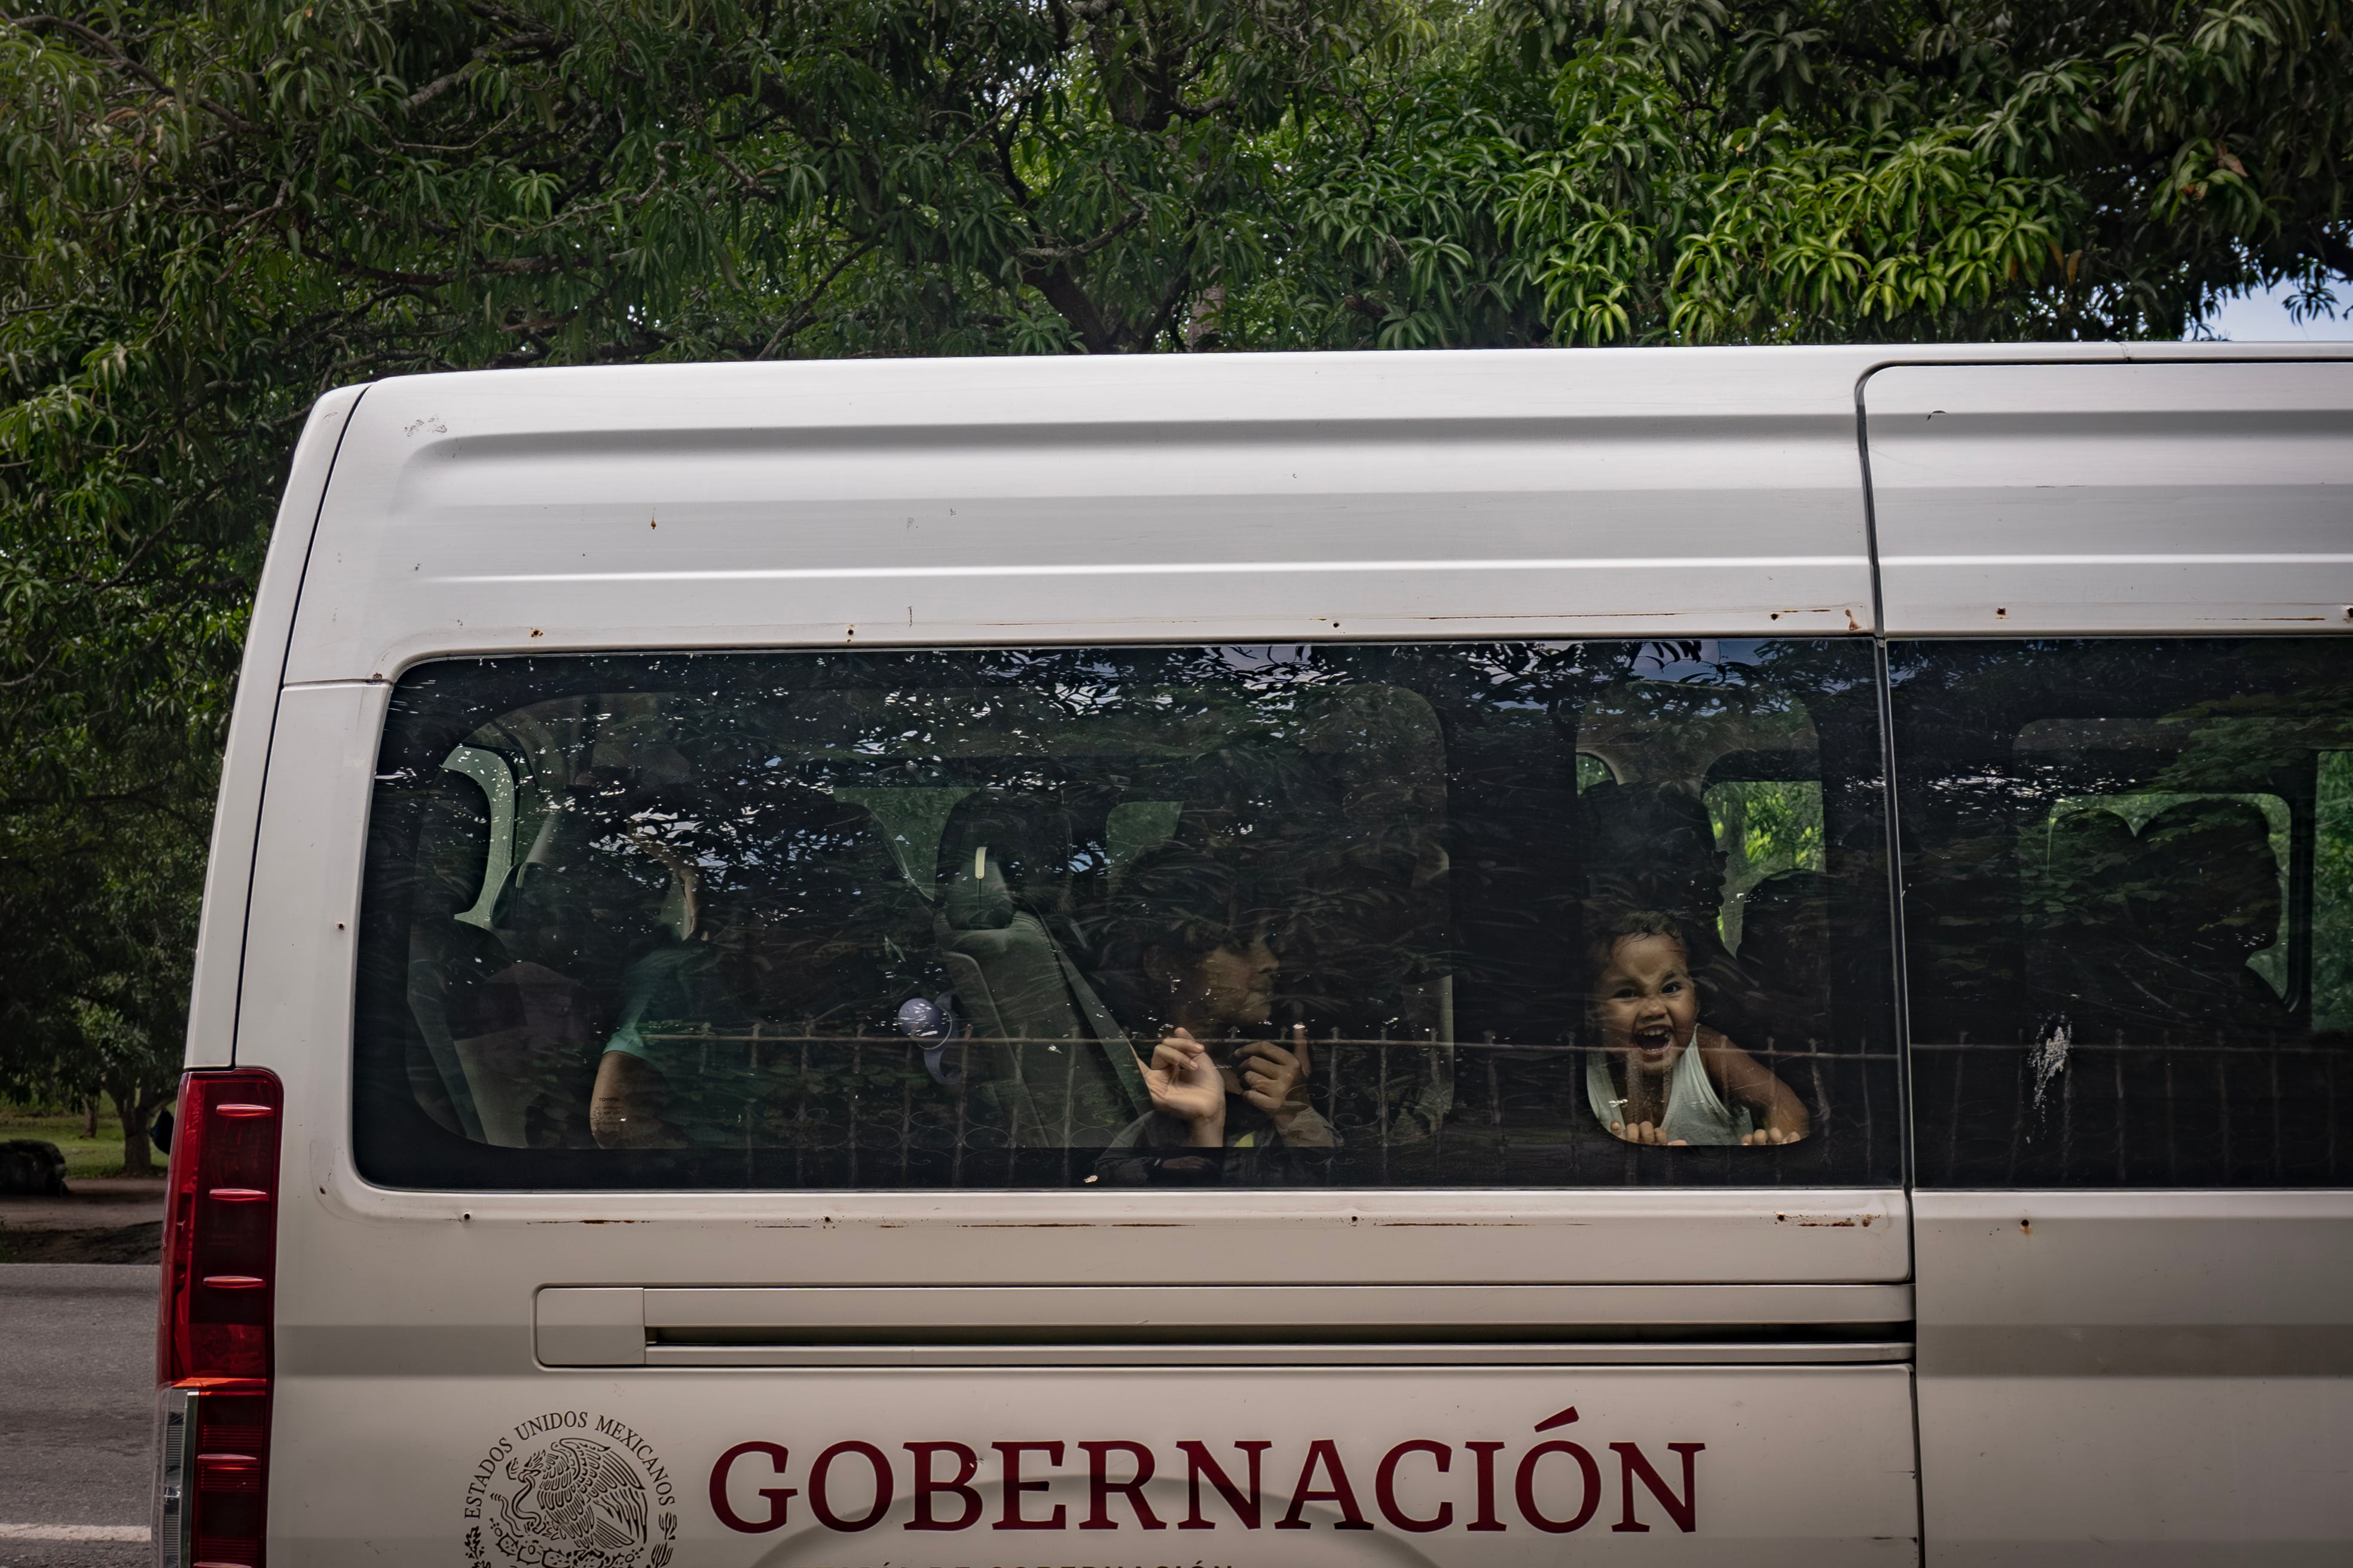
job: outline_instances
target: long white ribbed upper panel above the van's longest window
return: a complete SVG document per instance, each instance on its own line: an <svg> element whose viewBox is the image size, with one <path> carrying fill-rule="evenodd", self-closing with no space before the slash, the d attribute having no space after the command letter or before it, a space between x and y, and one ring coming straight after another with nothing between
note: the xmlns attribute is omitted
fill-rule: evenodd
<svg viewBox="0 0 2353 1568"><path fill-rule="evenodd" d="M1675 360L386 383L289 677L489 649L1866 628L1852 369Z"/></svg>

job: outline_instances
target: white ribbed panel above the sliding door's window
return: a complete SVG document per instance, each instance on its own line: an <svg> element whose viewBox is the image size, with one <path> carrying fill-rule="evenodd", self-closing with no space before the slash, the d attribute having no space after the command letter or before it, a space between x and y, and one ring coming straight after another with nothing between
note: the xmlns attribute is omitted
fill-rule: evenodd
<svg viewBox="0 0 2353 1568"><path fill-rule="evenodd" d="M1864 383L1889 635L2353 628L2353 362Z"/></svg>

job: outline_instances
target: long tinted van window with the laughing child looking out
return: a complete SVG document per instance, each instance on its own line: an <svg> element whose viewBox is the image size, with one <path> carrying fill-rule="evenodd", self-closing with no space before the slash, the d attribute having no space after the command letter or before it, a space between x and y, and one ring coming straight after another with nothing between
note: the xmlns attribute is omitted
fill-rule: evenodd
<svg viewBox="0 0 2353 1568"><path fill-rule="evenodd" d="M393 1185L1894 1182L1859 642L598 656L393 696Z"/></svg>

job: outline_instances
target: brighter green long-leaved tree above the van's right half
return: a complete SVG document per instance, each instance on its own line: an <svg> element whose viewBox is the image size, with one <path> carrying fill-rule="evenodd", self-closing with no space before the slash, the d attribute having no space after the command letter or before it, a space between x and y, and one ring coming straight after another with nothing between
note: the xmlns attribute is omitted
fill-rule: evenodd
<svg viewBox="0 0 2353 1568"><path fill-rule="evenodd" d="M1329 244L1299 273L1384 301L1381 343L2174 339L2238 289L2327 310L2353 275L2329 0L1478 21L1353 155L1304 160Z"/></svg>

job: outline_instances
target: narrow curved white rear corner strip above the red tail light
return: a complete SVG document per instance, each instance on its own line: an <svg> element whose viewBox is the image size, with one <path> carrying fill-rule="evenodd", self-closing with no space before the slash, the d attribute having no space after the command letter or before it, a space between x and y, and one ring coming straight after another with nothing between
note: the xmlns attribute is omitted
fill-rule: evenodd
<svg viewBox="0 0 2353 1568"><path fill-rule="evenodd" d="M254 870L254 832L261 820L261 773L271 755L271 719L285 675L287 637L301 595L311 529L327 494L336 447L365 386L346 386L311 404L294 461L287 468L278 522L261 567L254 609L245 621L245 656L238 663L238 701L228 717L221 755L221 788L212 809L212 851L205 858L205 912L195 943L195 976L188 994L188 1067L224 1067L235 1060L238 966L245 957L245 896Z"/></svg>

